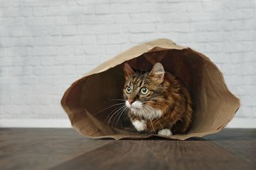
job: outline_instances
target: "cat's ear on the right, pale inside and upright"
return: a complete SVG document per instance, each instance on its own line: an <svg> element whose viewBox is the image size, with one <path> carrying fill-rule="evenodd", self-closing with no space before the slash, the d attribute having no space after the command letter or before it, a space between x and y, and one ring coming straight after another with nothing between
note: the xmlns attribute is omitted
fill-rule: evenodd
<svg viewBox="0 0 256 170"><path fill-rule="evenodd" d="M149 75L158 83L162 83L164 80L164 67L160 62L157 62L152 70L150 71Z"/></svg>

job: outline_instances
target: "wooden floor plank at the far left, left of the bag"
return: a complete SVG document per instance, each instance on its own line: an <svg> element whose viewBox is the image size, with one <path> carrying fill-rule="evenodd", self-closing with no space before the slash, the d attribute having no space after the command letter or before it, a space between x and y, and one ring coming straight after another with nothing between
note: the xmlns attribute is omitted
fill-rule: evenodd
<svg viewBox="0 0 256 170"><path fill-rule="evenodd" d="M74 129L0 129L0 167L47 169L111 142Z"/></svg>

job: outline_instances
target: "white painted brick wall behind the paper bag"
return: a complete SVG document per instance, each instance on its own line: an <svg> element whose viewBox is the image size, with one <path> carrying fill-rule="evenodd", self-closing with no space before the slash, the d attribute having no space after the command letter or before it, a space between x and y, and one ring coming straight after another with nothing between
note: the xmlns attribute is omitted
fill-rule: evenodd
<svg viewBox="0 0 256 170"><path fill-rule="evenodd" d="M67 118L63 92L127 48L169 38L210 57L256 118L255 0L1 0L0 118Z"/></svg>

